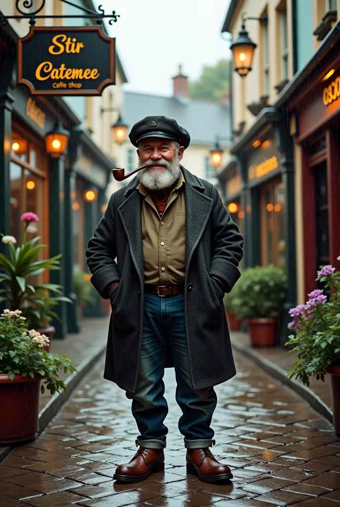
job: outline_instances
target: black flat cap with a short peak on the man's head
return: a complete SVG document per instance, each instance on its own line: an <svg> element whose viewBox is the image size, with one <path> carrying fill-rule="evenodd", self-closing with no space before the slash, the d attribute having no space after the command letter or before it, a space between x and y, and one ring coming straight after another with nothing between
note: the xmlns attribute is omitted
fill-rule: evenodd
<svg viewBox="0 0 340 507"><path fill-rule="evenodd" d="M138 147L141 139L146 137L164 137L174 139L184 148L188 148L190 135L185 128L181 127L176 120L166 116L147 116L135 123L129 134L132 144Z"/></svg>

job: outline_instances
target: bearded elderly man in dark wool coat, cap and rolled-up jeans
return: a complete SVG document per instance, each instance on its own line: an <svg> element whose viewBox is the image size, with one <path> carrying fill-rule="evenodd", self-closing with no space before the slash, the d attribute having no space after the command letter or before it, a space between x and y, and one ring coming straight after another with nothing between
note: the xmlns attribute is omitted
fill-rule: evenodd
<svg viewBox="0 0 340 507"><path fill-rule="evenodd" d="M162 379L174 366L187 472L228 480L230 468L209 450L210 423L213 386L236 373L223 297L240 276L243 238L216 187L180 164L190 136L175 120L146 117L129 137L147 167L112 194L86 252L112 307L104 378L126 391L140 432L113 478L137 482L164 469Z"/></svg>

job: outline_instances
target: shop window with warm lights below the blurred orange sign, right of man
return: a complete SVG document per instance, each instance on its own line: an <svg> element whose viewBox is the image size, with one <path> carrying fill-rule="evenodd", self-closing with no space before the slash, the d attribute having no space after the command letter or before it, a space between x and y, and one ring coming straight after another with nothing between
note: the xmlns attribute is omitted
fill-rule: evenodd
<svg viewBox="0 0 340 507"><path fill-rule="evenodd" d="M284 186L271 182L260 190L261 264L285 268Z"/></svg>

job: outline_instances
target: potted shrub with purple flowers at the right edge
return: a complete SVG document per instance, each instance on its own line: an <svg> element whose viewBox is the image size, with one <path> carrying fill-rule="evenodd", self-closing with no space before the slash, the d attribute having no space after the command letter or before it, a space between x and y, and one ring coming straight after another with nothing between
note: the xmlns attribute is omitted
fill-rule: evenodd
<svg viewBox="0 0 340 507"><path fill-rule="evenodd" d="M340 271L330 265L320 268L316 279L329 289L329 296L316 289L305 305L289 311L288 328L295 335L286 345L293 346L290 352L297 352L298 359L288 376L309 385L311 376L324 381L325 374L330 375L333 423L340 434Z"/></svg>

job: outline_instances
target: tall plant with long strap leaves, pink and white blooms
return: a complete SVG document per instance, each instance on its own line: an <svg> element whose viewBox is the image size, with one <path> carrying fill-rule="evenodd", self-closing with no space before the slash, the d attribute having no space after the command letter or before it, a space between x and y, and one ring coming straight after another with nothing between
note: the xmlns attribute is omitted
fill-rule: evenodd
<svg viewBox="0 0 340 507"><path fill-rule="evenodd" d="M0 302L9 301L11 310L19 308L23 316L27 318L29 328L39 328L43 334L53 333L54 328L50 327L50 322L57 314L53 307L59 301L67 301L62 293L62 286L54 283L36 283L36 276L43 273L46 269L60 269L57 255L51 259L36 260L39 252L46 245L37 245L39 236L26 241L27 232L30 232L32 224L39 219L35 213L27 212L21 215L22 222L26 224L23 241L20 246L15 248L17 242L13 236L2 236L2 242L8 245L9 255L0 253ZM47 329L49 328L49 329Z"/></svg>

